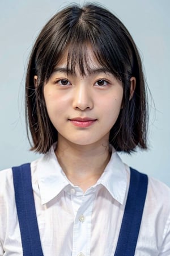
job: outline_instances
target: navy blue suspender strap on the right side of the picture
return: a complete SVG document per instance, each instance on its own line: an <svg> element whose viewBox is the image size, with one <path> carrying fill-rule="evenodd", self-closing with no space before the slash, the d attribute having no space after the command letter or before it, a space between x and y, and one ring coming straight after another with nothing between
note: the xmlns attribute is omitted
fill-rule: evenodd
<svg viewBox="0 0 170 256"><path fill-rule="evenodd" d="M130 185L114 256L134 256L147 193L148 177L130 168Z"/></svg>

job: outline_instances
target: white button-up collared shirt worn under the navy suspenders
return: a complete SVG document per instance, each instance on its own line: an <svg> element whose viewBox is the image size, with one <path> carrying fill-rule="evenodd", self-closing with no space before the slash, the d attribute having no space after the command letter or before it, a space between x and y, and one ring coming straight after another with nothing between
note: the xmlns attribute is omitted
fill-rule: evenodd
<svg viewBox="0 0 170 256"><path fill-rule="evenodd" d="M67 180L53 147L31 173L44 256L114 255L130 177L117 152L86 193ZM0 255L21 256L11 169L0 172L0 184ZM170 189L152 178L135 255L170 255Z"/></svg>

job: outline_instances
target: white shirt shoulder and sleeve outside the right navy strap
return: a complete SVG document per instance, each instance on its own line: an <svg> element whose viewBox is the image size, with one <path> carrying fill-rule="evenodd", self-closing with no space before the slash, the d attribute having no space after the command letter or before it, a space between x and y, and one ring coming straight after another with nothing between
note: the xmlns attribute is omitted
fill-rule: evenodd
<svg viewBox="0 0 170 256"><path fill-rule="evenodd" d="M137 254L143 248L143 255L148 255L148 248L150 248L152 255L158 255L158 252L163 251L168 251L169 254L166 255L170 255L169 198L170 188L161 181L148 176L147 194L143 209ZM145 248L143 247L143 241L145 241Z"/></svg>

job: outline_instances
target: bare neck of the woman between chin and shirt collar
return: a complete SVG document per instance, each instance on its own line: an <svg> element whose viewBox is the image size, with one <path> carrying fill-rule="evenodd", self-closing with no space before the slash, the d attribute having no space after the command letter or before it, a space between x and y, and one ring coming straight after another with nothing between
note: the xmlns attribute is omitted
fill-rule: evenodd
<svg viewBox="0 0 170 256"><path fill-rule="evenodd" d="M81 146L58 142L56 156L71 183L86 191L103 174L111 154L108 143Z"/></svg>

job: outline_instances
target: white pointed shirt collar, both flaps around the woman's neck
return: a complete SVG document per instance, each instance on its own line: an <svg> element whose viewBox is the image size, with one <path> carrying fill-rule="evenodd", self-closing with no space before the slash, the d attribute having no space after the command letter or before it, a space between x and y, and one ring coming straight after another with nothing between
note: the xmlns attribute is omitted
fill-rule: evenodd
<svg viewBox="0 0 170 256"><path fill-rule="evenodd" d="M71 184L62 171L61 166L59 166L54 146L37 163L37 179L42 204L48 203L63 188ZM102 184L120 204L124 203L127 175L125 165L114 148L112 148L111 159L97 184Z"/></svg>

